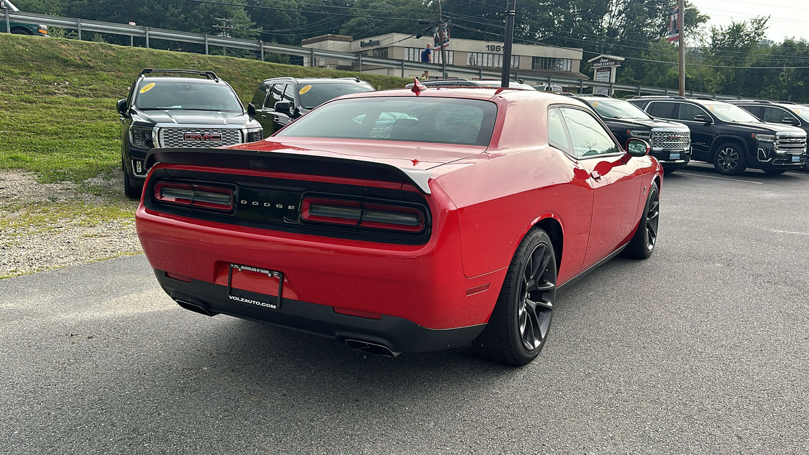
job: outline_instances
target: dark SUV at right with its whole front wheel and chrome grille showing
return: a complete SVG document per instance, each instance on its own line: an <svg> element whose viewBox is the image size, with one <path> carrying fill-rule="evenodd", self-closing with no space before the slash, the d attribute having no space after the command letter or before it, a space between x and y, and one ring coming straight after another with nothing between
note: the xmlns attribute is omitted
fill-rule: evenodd
<svg viewBox="0 0 809 455"><path fill-rule="evenodd" d="M681 121L691 130L691 159L736 175L745 168L780 174L806 163L807 134L765 123L739 106L682 96L636 96L629 102L655 118Z"/></svg>

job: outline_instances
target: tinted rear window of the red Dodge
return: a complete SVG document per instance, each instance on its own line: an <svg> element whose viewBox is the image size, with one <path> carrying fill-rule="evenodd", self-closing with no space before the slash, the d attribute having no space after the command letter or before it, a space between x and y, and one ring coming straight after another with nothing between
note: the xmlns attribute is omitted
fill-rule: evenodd
<svg viewBox="0 0 809 455"><path fill-rule="evenodd" d="M485 100L355 98L324 104L275 135L488 146L497 114Z"/></svg>

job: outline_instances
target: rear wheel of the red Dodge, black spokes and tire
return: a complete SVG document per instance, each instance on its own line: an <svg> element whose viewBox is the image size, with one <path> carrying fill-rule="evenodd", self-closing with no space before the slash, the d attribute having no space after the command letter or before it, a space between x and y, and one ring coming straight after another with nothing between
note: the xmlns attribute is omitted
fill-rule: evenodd
<svg viewBox="0 0 809 455"><path fill-rule="evenodd" d="M498 302L481 334L491 359L516 366L536 359L548 341L556 279L550 237L542 229L528 232L511 259Z"/></svg>

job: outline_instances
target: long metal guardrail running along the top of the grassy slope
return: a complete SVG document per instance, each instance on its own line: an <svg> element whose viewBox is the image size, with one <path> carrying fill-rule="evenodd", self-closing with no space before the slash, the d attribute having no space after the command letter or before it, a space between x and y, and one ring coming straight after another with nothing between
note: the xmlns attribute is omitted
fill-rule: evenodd
<svg viewBox="0 0 809 455"><path fill-rule="evenodd" d="M442 65L437 63L421 63L411 62L409 60L399 60L396 58L385 57L371 57L362 55L360 53L339 52L328 49L315 49L304 48L301 46L279 45L277 43L267 43L261 40L244 40L241 38L231 38L228 36L216 36L203 33L192 32L177 32L175 30L166 30L163 28L150 28L141 25L129 25L123 23L109 23L100 22L87 19L74 19L51 15L37 15L33 13L24 13L22 11L5 11L6 32L11 32L11 21L21 23L36 23L43 24L49 27L68 28L78 32L78 39L82 39L82 32L93 33L108 33L112 35L129 36L129 45L133 45L135 37L146 39L146 48L149 47L149 40L172 40L184 43L193 43L197 45L205 45L205 54L209 53L209 46L218 46L222 48L244 49L255 51L260 54L260 59L264 62L266 53L282 53L287 55L294 55L298 57L309 57L311 66L315 66L316 59L329 58L351 62L357 65L357 69L362 73L362 65L379 66L383 68L396 68L401 70L401 76L407 70L431 70L440 71ZM468 74L472 78L483 79L489 77L491 79L500 79L501 73L499 70L485 70L483 68L471 68L468 66L452 66L447 65L447 71L455 74ZM677 91L670 88L660 87L647 87L642 85L622 84L622 83L602 83L586 79L570 79L559 78L554 76L536 76L532 74L523 74L519 76L514 72L515 79L523 79L526 83L531 85L548 84L548 85L565 85L566 87L578 87L581 92L584 88L608 88L610 93L615 91L625 91L637 95L676 95ZM741 96L720 95L716 93L705 93L701 91L686 91L687 96L700 96L713 98L714 100L740 100Z"/></svg>

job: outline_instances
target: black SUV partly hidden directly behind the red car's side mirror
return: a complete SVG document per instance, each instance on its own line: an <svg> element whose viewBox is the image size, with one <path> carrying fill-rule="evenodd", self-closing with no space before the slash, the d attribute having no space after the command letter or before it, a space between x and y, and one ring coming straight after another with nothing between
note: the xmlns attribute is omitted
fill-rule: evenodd
<svg viewBox="0 0 809 455"><path fill-rule="evenodd" d="M625 100L606 95L577 95L574 98L590 104L618 142L639 138L652 147L649 155L663 164L663 172L671 173L691 160L691 132L676 121L655 120Z"/></svg>

